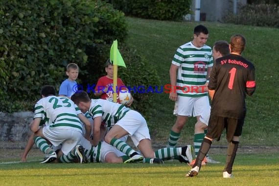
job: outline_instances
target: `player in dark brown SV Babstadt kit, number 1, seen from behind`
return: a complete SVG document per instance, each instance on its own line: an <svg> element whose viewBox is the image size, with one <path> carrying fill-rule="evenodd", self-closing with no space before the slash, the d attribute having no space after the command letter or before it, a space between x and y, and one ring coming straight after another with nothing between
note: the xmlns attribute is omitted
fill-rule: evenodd
<svg viewBox="0 0 279 186"><path fill-rule="evenodd" d="M232 165L246 115L246 93L252 95L256 90L255 67L241 56L245 45L246 39L242 35L233 35L229 46L231 54L218 58L213 66L208 86L212 99L208 133L202 142L196 162L186 177L198 175L212 140L219 140L224 128L229 144L223 178L233 177Z"/></svg>

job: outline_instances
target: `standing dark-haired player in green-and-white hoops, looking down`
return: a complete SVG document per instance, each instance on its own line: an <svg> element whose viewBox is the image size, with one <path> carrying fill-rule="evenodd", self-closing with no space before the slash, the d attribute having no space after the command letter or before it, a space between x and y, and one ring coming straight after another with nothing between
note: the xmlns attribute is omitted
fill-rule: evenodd
<svg viewBox="0 0 279 186"><path fill-rule="evenodd" d="M175 101L173 114L177 116L168 146L174 147L189 116L197 121L202 111L209 107L208 92L198 92L204 86L213 66L212 50L206 45L209 31L203 25L194 28L193 40L177 48L170 66L170 82L173 87L169 98Z"/></svg>

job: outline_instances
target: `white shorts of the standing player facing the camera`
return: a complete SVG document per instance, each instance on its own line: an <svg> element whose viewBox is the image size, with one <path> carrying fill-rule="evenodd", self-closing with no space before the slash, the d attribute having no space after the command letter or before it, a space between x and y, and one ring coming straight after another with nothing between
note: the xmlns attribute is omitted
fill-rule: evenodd
<svg viewBox="0 0 279 186"><path fill-rule="evenodd" d="M175 116L201 116L202 112L208 108L209 97L186 97L178 95L174 105L173 115Z"/></svg>

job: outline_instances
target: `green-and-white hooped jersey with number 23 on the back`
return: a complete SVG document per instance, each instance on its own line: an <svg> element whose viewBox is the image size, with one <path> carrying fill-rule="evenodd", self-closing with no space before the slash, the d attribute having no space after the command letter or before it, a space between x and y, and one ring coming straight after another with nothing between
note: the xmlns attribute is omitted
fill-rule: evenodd
<svg viewBox="0 0 279 186"><path fill-rule="evenodd" d="M34 118L48 118L49 127L77 130L82 132L81 121L74 103L67 97L47 96L35 105Z"/></svg>

